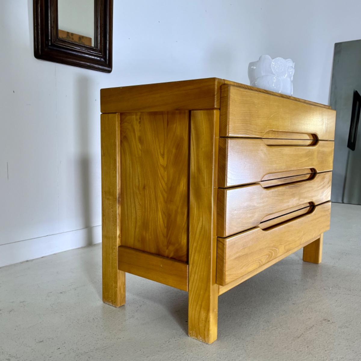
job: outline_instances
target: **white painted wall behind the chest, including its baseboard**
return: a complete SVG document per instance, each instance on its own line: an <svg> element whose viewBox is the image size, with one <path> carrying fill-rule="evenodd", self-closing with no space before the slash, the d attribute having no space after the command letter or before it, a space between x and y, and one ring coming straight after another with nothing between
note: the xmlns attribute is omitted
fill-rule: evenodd
<svg viewBox="0 0 361 361"><path fill-rule="evenodd" d="M39 61L32 0L0 13L0 265L100 242L99 89L220 77L261 54L296 62L294 95L328 103L357 1L114 0L113 72Z"/></svg>

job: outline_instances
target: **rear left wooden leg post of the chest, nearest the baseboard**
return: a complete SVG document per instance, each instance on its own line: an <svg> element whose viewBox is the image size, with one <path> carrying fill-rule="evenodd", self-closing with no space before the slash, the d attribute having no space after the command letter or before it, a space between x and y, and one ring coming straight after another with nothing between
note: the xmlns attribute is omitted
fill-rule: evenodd
<svg viewBox="0 0 361 361"><path fill-rule="evenodd" d="M120 115L101 114L101 218L103 301L125 304L125 272L118 270L120 245Z"/></svg>

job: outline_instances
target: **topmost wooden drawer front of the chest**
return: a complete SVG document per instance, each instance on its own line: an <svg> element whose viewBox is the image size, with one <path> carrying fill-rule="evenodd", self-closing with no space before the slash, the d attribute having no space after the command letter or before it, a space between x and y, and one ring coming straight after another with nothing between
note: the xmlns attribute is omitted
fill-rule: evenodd
<svg viewBox="0 0 361 361"><path fill-rule="evenodd" d="M221 87L220 136L332 140L335 110L236 86ZM279 135L277 133L279 132ZM282 133L287 134L285 136Z"/></svg>

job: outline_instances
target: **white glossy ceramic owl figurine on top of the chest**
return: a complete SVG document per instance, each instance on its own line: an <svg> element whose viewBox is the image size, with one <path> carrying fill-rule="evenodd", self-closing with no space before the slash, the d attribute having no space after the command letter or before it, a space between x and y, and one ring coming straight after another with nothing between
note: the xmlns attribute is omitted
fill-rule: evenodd
<svg viewBox="0 0 361 361"><path fill-rule="evenodd" d="M251 86L292 95L295 63L291 59L274 58L262 55L258 61L248 65L248 78Z"/></svg>

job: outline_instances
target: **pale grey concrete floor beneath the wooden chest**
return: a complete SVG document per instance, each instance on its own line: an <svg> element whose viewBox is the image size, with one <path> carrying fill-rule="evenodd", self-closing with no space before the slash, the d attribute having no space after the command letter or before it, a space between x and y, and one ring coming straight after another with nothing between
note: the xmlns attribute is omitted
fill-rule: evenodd
<svg viewBox="0 0 361 361"><path fill-rule="evenodd" d="M0 360L361 360L361 206L333 204L321 265L302 251L219 297L218 340L187 336L187 292L127 275L101 301L101 246L0 269Z"/></svg>

